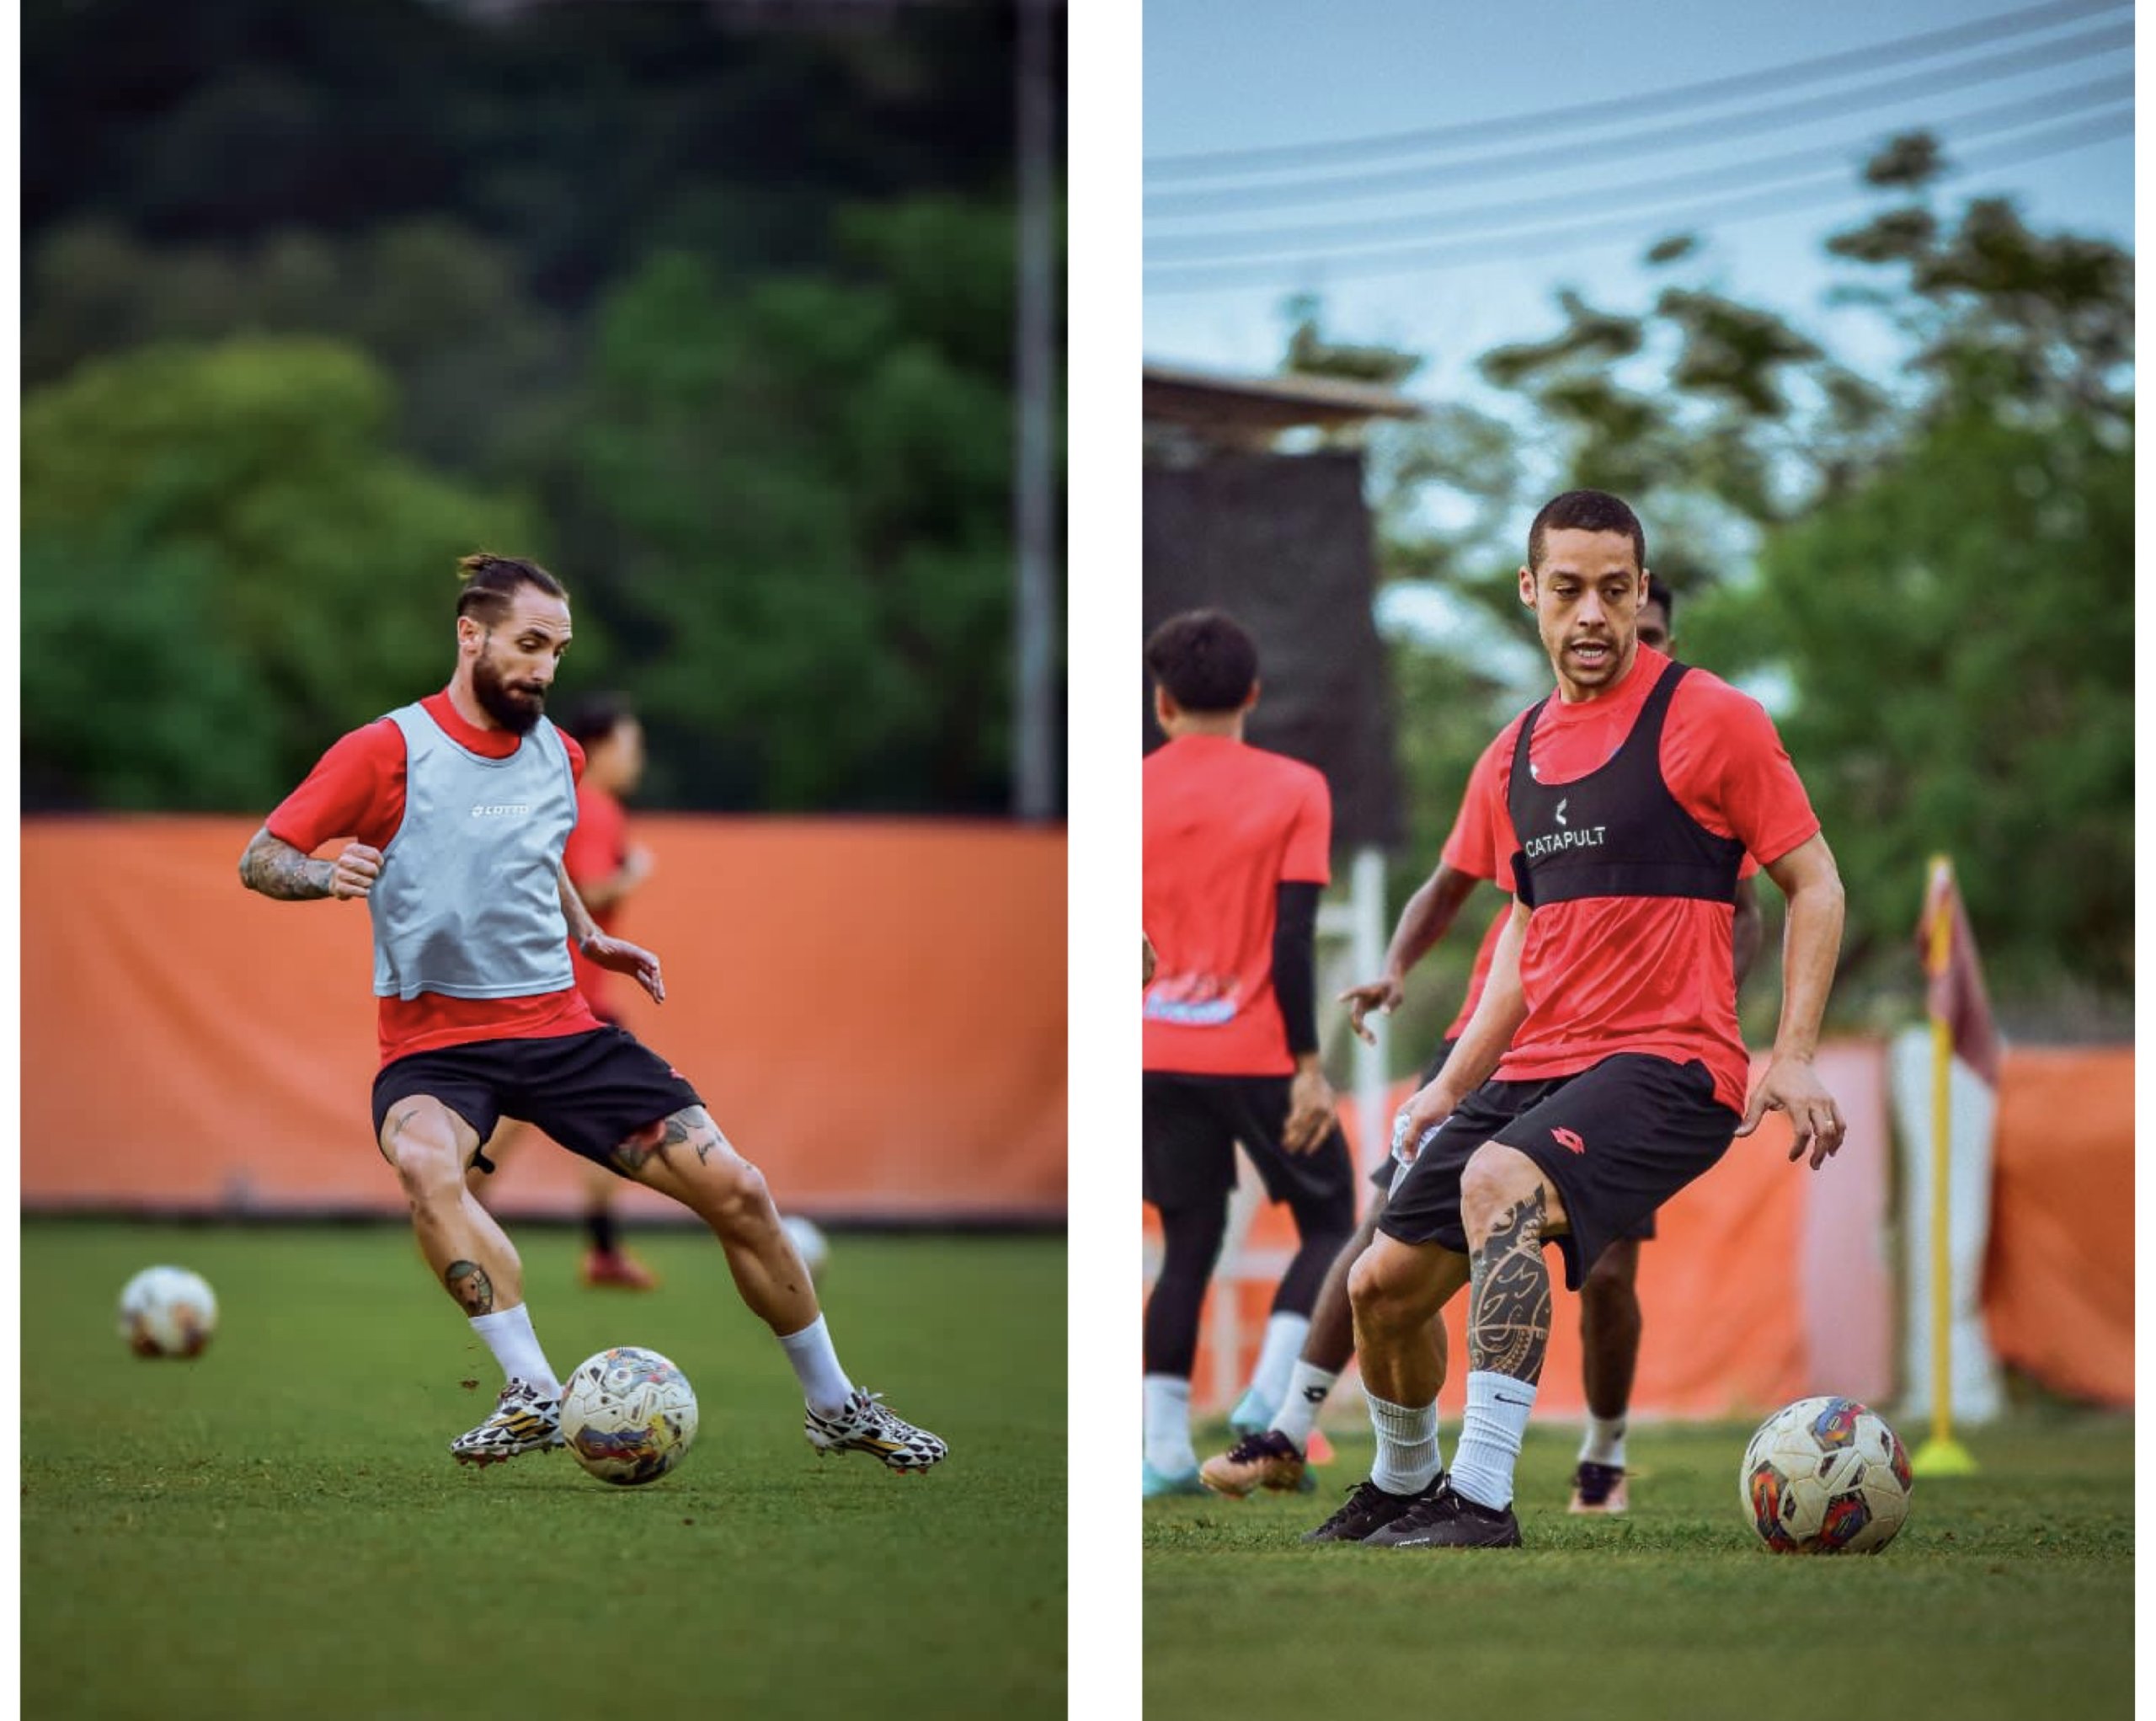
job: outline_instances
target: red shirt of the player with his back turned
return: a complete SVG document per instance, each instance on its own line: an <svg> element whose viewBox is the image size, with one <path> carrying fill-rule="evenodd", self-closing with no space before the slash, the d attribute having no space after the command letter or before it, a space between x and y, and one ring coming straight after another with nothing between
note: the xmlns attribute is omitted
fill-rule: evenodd
<svg viewBox="0 0 2156 1721"><path fill-rule="evenodd" d="M1179 735L1145 759L1145 1068L1287 1076L1272 990L1281 884L1332 876L1332 794L1311 766L1227 740Z"/></svg>

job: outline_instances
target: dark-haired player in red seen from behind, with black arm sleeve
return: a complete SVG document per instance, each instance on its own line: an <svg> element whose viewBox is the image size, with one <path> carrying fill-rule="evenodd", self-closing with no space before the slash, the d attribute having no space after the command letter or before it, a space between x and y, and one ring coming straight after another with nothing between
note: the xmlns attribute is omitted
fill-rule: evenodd
<svg viewBox="0 0 2156 1721"><path fill-rule="evenodd" d="M1145 1305L1143 1495L1201 1492L1190 1445L1199 1309L1235 1186L1235 1145L1285 1201L1300 1244L1266 1357L1281 1372L1326 1266L1354 1229L1354 1167L1317 1065L1313 940L1332 800L1311 766L1248 746L1257 647L1220 610L1145 647L1166 746L1145 761L1145 1199L1160 1277Z"/></svg>

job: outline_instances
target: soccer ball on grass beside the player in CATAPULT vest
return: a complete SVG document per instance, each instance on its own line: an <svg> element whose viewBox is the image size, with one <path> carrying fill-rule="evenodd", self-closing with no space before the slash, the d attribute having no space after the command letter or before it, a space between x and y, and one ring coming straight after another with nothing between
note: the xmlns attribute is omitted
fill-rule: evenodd
<svg viewBox="0 0 2156 1721"><path fill-rule="evenodd" d="M1908 1516L1908 1454L1854 1398L1800 1398L1744 1447L1738 1499L1774 1553L1878 1553Z"/></svg>

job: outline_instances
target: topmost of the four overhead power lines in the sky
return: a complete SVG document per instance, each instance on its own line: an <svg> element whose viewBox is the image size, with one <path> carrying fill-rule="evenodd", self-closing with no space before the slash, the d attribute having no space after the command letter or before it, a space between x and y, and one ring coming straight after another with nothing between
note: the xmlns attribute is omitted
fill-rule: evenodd
<svg viewBox="0 0 2156 1721"><path fill-rule="evenodd" d="M2044 6L1977 17L1945 30L1923 30L1912 37L1874 43L1871 47L1846 47L1837 54L1820 54L1811 60L1738 71L1723 78L1705 78L1695 84L1675 84L1664 91L1639 95L1613 95L1602 101L1580 101L1559 112L1501 114L1494 119L1470 119L1455 125L1427 125L1408 132L1380 132L1363 138L1335 138L1330 142L1266 144L1253 149L1201 149L1179 155L1156 155L1145 162L1147 179L1218 179L1279 168L1311 168L1330 162L1356 162L1367 155L1404 155L1455 149L1462 144L1501 142L1511 136L1546 138L1552 132L1580 132L1613 119L1636 119L1641 108L1669 112L1671 108L1712 106L1731 97L1759 93L1761 80L1772 80L1774 88L1815 84L1824 78L1839 78L1846 71L1882 71L1904 60L1923 60L1936 54L1951 54L1960 47L1979 47L1988 41L2050 30L2061 24L2076 24L2104 13L2130 11L2132 0L2055 0Z"/></svg>

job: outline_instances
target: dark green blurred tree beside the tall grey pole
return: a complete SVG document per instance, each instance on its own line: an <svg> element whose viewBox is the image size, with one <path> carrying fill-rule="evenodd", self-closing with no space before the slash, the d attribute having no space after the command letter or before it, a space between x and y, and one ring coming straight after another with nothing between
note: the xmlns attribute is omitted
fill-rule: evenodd
<svg viewBox="0 0 2156 1721"><path fill-rule="evenodd" d="M711 804L1000 811L1011 222L847 211L843 276L660 257L606 306L573 561ZM655 746L655 753L660 748Z"/></svg>

